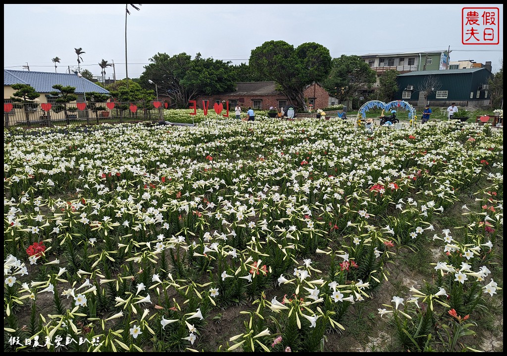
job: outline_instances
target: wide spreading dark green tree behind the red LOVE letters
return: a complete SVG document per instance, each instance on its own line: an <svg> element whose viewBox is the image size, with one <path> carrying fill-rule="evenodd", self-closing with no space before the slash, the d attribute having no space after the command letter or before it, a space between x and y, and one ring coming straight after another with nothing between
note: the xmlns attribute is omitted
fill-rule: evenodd
<svg viewBox="0 0 507 356"><path fill-rule="evenodd" d="M233 91L236 85L231 62L202 58L200 53L192 59L186 53L170 57L157 53L144 66L139 81L145 88L158 87L159 94L169 96L176 108L188 107L189 100L204 94Z"/></svg>

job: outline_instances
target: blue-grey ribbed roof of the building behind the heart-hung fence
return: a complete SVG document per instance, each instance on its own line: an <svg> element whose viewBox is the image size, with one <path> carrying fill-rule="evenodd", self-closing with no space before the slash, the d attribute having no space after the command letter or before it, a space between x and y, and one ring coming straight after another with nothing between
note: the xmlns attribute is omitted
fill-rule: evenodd
<svg viewBox="0 0 507 356"><path fill-rule="evenodd" d="M13 84L28 84L38 93L53 92L55 91L53 86L60 84L63 86L75 87L76 94L83 94L83 87L84 92L86 93L96 92L109 94L109 92L104 88L83 77L79 77L74 73L68 74L4 69L4 86L12 86Z"/></svg>

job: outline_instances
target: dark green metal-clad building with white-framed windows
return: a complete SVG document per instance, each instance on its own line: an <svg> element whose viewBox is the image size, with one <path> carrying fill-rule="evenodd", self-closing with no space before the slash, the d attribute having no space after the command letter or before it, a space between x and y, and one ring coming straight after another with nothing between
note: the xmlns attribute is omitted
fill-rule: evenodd
<svg viewBox="0 0 507 356"><path fill-rule="evenodd" d="M491 102L487 68L412 71L396 77L399 91L395 98L422 107L482 107Z"/></svg>

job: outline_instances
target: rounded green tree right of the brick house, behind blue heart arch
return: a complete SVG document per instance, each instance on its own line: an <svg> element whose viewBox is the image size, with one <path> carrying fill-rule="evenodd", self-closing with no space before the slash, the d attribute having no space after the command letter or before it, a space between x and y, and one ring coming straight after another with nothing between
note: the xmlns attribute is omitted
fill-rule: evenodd
<svg viewBox="0 0 507 356"><path fill-rule="evenodd" d="M338 102L350 107L358 99L360 89L370 89L375 83L375 71L359 56L341 55L333 59L333 67L324 87L336 94Z"/></svg>

